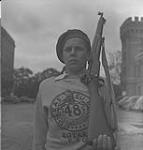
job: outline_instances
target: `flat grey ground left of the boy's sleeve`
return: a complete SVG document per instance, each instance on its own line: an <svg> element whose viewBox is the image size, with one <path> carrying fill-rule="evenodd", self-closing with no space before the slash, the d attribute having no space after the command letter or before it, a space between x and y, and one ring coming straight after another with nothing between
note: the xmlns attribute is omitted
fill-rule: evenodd
<svg viewBox="0 0 143 150"><path fill-rule="evenodd" d="M2 105L2 150L31 150L33 104Z"/></svg>

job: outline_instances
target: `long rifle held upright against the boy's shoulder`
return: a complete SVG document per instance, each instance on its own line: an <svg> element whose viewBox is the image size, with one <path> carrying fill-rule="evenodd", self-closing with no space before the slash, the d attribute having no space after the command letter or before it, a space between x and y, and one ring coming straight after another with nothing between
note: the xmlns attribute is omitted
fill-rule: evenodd
<svg viewBox="0 0 143 150"><path fill-rule="evenodd" d="M103 17L103 13L99 12L98 15L100 15L100 18L92 42L91 56L90 56L89 65L87 69L88 71L84 77L85 83L87 84L89 90L90 99L91 99L90 110L89 110L89 126L88 126L87 143L91 144L91 141L97 138L100 134L106 134L112 138L113 145L114 145L115 143L113 137L114 130L111 128L111 123L109 121L110 117L108 117L106 114L107 112L105 112L104 99L99 94L99 80L101 80L99 78L100 52L101 52L101 48L103 49L102 33L103 33L103 26L106 20ZM107 61L104 61L104 67L106 67L105 63L107 63ZM106 68L106 73L107 73L107 69L108 68Z"/></svg>

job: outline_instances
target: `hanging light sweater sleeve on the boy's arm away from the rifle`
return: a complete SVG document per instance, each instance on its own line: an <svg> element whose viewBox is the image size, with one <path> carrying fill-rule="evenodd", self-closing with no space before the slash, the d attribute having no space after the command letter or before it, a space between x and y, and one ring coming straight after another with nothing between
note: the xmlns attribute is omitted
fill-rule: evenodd
<svg viewBox="0 0 143 150"><path fill-rule="evenodd" d="M38 93L34 114L34 131L32 150L46 150L46 135L48 132L48 121L42 106L40 93Z"/></svg>

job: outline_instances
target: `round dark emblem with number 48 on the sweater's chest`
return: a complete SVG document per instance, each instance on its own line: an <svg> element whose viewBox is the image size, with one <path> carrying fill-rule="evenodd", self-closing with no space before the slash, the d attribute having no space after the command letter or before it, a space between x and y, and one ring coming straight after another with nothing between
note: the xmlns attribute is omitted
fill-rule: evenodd
<svg viewBox="0 0 143 150"><path fill-rule="evenodd" d="M87 95L67 90L55 97L50 110L60 128L71 132L87 129L89 114L89 97Z"/></svg>

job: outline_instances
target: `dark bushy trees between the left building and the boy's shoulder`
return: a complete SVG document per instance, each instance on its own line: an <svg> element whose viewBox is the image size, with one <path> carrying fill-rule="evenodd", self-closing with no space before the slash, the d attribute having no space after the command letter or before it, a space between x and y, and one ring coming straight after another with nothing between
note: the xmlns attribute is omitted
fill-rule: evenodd
<svg viewBox="0 0 143 150"><path fill-rule="evenodd" d="M60 72L56 69L48 68L42 72L33 74L28 68L18 68L14 70L13 93L18 97L27 96L35 98L40 82L51 76L57 76Z"/></svg>

